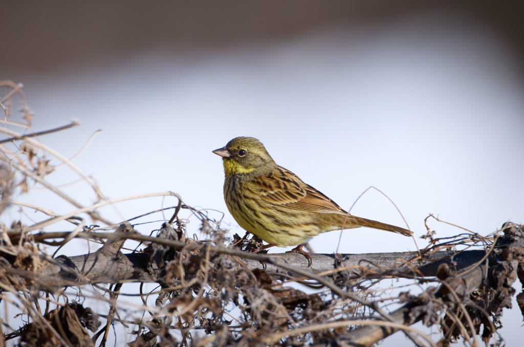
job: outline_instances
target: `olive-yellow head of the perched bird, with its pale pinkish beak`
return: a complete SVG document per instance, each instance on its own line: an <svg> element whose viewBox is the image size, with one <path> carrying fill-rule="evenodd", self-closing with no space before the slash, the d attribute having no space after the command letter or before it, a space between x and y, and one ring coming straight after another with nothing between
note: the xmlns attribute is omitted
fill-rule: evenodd
<svg viewBox="0 0 524 347"><path fill-rule="evenodd" d="M265 173L275 164L262 142L252 137L236 137L213 153L222 157L226 176Z"/></svg>

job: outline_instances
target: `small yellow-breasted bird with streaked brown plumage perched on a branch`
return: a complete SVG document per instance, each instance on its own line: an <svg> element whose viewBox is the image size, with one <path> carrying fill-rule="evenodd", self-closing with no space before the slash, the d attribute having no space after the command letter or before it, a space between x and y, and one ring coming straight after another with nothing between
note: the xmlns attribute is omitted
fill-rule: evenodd
<svg viewBox="0 0 524 347"><path fill-rule="evenodd" d="M410 230L353 216L296 174L278 165L258 139L236 137L212 151L224 165L224 200L246 231L270 247L297 245L290 252L311 256L304 243L328 231L368 227L411 236Z"/></svg>

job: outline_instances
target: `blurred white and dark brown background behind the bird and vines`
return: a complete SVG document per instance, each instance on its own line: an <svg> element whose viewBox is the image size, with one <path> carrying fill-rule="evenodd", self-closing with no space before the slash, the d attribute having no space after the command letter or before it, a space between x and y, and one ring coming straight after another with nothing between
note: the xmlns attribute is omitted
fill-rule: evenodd
<svg viewBox="0 0 524 347"><path fill-rule="evenodd" d="M40 138L68 158L103 130L74 163L109 198L176 192L225 212L223 226L242 236L211 151L253 136L345 209L374 186L417 237L429 214L486 235L524 222L523 10L487 1L5 2L0 80L24 84L36 131L80 120ZM78 176L65 169L48 179ZM84 183L64 190L94 202ZM46 194L20 199L75 210ZM175 204L135 200L104 216L118 222ZM405 226L374 190L352 213ZM462 232L428 225L437 237ZM198 227L194 219L188 232ZM310 244L333 253L339 236ZM345 231L338 249L407 250L416 250L412 239L371 229ZM508 345L521 332L514 306L500 331ZM404 341L397 335L383 345Z"/></svg>

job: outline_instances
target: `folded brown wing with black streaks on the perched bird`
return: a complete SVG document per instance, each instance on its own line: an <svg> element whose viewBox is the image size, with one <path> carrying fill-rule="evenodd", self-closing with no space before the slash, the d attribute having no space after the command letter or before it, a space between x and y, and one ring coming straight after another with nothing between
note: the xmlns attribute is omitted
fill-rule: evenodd
<svg viewBox="0 0 524 347"><path fill-rule="evenodd" d="M260 198L272 205L309 212L347 213L329 197L280 166L269 175L255 178L253 183Z"/></svg>

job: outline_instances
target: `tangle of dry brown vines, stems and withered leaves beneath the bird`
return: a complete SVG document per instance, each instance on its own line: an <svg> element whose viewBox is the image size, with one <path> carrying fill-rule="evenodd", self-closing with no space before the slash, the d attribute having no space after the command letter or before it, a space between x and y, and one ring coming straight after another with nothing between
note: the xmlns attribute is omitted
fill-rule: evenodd
<svg viewBox="0 0 524 347"><path fill-rule="evenodd" d="M166 192L147 196L172 196L177 203L151 213L172 217L145 236L134 221L113 224L100 213L102 206L138 197L105 199L90 177L40 142L74 124L35 133L21 86L3 81L0 87L6 135L0 142L0 346L105 346L112 330L118 331L115 344L130 346L367 346L397 331L419 346L460 339L487 345L502 309L511 307L511 285L524 282L524 227L512 223L485 237L457 229L456 236L438 239L428 228L428 246L419 252L312 254L308 268L300 254L249 252L260 240L227 238L220 221ZM14 105L24 124L9 119ZM23 131L11 130L16 127ZM51 157L92 187L96 204L82 206L46 181L56 170ZM59 215L17 199L35 186L74 210ZM20 213L10 214L13 209ZM28 210L46 217L31 216L30 223L13 217ZM199 219L205 239L188 237L182 215ZM52 231L64 222L70 231ZM73 239L93 251L55 256ZM128 240L139 243L125 249ZM156 288L145 290L147 283ZM517 300L522 309L524 293ZM24 323L12 326L18 316ZM413 329L418 321L440 334Z"/></svg>

